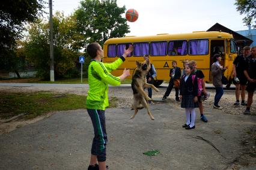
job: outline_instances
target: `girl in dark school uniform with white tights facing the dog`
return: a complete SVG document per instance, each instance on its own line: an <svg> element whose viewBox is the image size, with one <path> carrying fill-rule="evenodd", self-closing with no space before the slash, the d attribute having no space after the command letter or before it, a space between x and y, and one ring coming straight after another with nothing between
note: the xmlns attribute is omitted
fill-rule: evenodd
<svg viewBox="0 0 256 170"><path fill-rule="evenodd" d="M184 71L185 75L183 75L180 81L180 100L181 108L185 108L186 111L186 123L182 127L185 129L195 129L195 108L198 108L197 76L192 74L192 65L186 65Z"/></svg>

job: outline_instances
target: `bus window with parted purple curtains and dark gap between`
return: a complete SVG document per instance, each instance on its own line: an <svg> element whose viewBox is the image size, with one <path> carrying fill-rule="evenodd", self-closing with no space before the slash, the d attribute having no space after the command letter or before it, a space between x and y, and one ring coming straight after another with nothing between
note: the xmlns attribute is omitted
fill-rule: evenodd
<svg viewBox="0 0 256 170"><path fill-rule="evenodd" d="M187 41L169 41L169 56L184 56L187 54Z"/></svg>

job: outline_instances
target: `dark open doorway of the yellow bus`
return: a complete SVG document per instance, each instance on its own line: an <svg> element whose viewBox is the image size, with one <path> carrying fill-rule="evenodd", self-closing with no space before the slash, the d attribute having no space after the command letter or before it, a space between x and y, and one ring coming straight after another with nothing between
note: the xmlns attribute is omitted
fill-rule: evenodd
<svg viewBox="0 0 256 170"><path fill-rule="evenodd" d="M213 56L215 54L225 54L225 40L224 39L216 39L210 41L210 69L213 64ZM221 65L224 65L224 59L222 59ZM210 81L212 81L212 71L210 71L209 75Z"/></svg>

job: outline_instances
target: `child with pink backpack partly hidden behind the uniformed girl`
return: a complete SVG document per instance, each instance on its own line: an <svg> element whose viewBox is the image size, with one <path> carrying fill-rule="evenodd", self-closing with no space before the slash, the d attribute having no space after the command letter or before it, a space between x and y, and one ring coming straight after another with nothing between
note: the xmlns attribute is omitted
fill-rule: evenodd
<svg viewBox="0 0 256 170"><path fill-rule="evenodd" d="M198 104L199 104L199 111L200 111L200 118L203 122L208 122L206 116L204 116L203 110L203 101L209 97L209 94L206 92L206 83L204 82L204 73L197 69L197 63L192 60L190 61L190 65L193 67L193 74L197 76L197 83L198 83Z"/></svg>

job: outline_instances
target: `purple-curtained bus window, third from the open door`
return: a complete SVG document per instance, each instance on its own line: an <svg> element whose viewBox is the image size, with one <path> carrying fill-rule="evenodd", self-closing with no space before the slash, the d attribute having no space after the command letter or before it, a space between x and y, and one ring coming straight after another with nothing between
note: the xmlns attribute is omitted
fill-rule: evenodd
<svg viewBox="0 0 256 170"><path fill-rule="evenodd" d="M167 42L151 42L150 43L150 55L151 56L166 56Z"/></svg>

